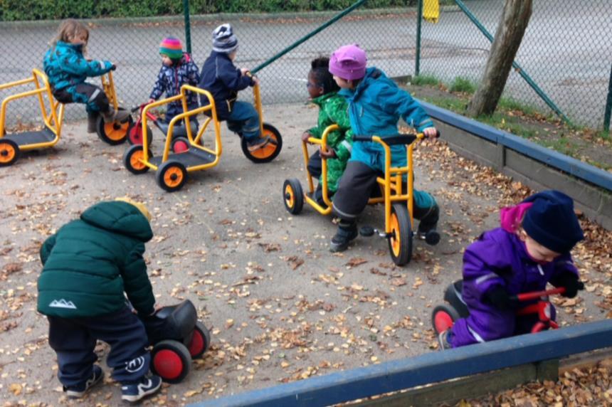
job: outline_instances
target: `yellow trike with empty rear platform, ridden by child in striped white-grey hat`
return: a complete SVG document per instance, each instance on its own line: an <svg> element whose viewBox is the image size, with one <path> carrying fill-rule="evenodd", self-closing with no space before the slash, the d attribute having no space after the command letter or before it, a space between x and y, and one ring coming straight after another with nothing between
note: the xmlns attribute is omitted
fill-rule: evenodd
<svg viewBox="0 0 612 407"><path fill-rule="evenodd" d="M194 110L187 110L186 92L204 95L209 101L209 104ZM265 147L251 152L247 147L245 139L242 139L241 147L243 153L252 162L270 162L278 156L280 149L283 148L283 139L280 136L280 132L278 132L275 127L263 122L259 85L253 86L253 94L255 95L255 109L260 115L260 131L262 137L269 137L270 142L268 142ZM149 110L178 100L180 100L183 105L183 113L176 115L168 123L166 142L164 143L162 156L153 157L150 149L151 137L148 134L151 130L147 125L150 117ZM190 117L195 118L196 115L200 113L204 113L206 120L197 133L194 134L195 127L191 125L189 120ZM183 121L186 137L173 137L174 127L178 126ZM213 148L203 145L204 132L211 123L214 129ZM179 191L179 189L184 186L189 172L212 168L218 164L221 158L221 152L223 151L221 144L221 122L219 122L217 117L215 100L211 93L206 90L191 85L183 85L181 86L180 95L167 97L166 99L158 100L157 102L152 102L144 106L141 112L141 126L142 144L134 144L126 150L123 156L123 164L132 174L144 174L149 171L149 169L154 169L156 171L155 179L157 184L165 191ZM181 148L180 152L176 152L179 150L173 149L173 146L176 146L179 142L184 144L186 148Z"/></svg>

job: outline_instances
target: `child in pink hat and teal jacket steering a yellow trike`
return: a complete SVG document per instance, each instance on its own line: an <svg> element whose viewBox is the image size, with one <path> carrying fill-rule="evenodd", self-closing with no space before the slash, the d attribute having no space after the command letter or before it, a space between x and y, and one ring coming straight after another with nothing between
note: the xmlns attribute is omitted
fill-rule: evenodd
<svg viewBox="0 0 612 407"><path fill-rule="evenodd" d="M400 89L378 68L366 68L366 63L366 53L357 45L342 46L329 58L329 72L342 88L338 94L349 102L353 134L384 139L399 133L397 125L401 118L418 132L435 137L436 127L410 93ZM378 187L376 177L384 174L384 159L380 144L354 142L333 200L333 211L340 222L332 238L332 252L346 250L357 238L357 216ZM406 146L391 146L391 166L406 166ZM414 217L420 220L417 236L424 239L435 231L440 210L436 199L426 192L414 189L413 201Z"/></svg>

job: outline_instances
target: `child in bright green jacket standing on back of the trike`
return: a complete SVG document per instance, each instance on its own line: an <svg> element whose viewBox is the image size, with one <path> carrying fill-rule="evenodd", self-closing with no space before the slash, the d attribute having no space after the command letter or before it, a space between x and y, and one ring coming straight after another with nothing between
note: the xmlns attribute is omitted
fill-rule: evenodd
<svg viewBox="0 0 612 407"><path fill-rule="evenodd" d="M321 159L327 159L327 194L331 197L338 189L338 180L342 176L349 158L351 158L351 123L349 122L347 101L344 97L338 95L340 88L327 68L329 58L316 58L312 60L310 66L307 88L312 103L319 107L319 120L317 126L302 134L302 141L306 142L309 137L321 139L326 127L330 125L339 126L338 130L329 133L327 136L327 151L320 149L312 154L308 160L310 175L319 178L319 185L314 198L320 205L325 205L322 191Z"/></svg>

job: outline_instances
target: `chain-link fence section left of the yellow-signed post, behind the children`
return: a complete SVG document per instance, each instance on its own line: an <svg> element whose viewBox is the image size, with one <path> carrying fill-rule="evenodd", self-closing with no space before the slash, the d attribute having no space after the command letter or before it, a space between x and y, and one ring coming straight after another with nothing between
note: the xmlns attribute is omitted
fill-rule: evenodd
<svg viewBox="0 0 612 407"><path fill-rule="evenodd" d="M238 38L236 65L255 68L335 14L226 15L222 18L191 16L192 57L201 68L212 48L213 29L220 23L229 22ZM31 68L41 68L43 54L58 24L59 21L0 25L2 54L11 56L0 59L0 83L26 78L31 75ZM162 65L159 57L162 38L176 36L181 41L185 40L182 18L138 22L101 20L91 21L88 26L88 55L117 64L115 87L125 106L137 105L148 99ZM317 56L329 56L335 48L346 43L359 43L369 52L370 63L383 68L389 75L411 73L415 42L416 9L349 14L258 72L263 103L306 102L310 60ZM91 81L97 83L95 78ZM0 97L7 94L0 91ZM241 97L248 100L252 95L245 90ZM33 115L39 115L37 103L35 98L11 102L9 122L31 122ZM67 117L85 117L83 106L68 105Z"/></svg>

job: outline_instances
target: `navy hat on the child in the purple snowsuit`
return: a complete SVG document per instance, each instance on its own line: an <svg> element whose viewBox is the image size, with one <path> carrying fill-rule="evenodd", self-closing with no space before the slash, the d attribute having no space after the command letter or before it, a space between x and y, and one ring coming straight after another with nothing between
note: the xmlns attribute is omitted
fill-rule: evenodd
<svg viewBox="0 0 612 407"><path fill-rule="evenodd" d="M542 191L523 201L533 205L523 218L527 235L556 253L568 253L584 239L580 223L574 213L574 201L559 191Z"/></svg>

